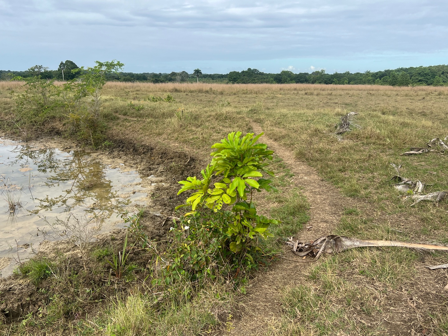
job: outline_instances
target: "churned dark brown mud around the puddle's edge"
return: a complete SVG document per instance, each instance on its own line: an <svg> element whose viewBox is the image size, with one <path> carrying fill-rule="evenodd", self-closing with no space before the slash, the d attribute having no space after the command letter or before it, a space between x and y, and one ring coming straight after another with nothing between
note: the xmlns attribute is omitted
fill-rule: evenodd
<svg viewBox="0 0 448 336"><path fill-rule="evenodd" d="M33 145L41 147L56 147L62 150L81 149L74 142L62 138L40 138L33 140ZM164 185L157 185L152 194L151 208L146 208L140 223L143 231L156 246L165 244L169 223L164 224L168 216L171 216L174 207L184 202L183 196L177 196L179 189L177 181L185 179L191 173L195 173L196 159L182 151L167 151L166 148L141 144L132 140L113 139L113 145L109 148L90 151L90 155L101 158L102 162L113 167L125 164L129 169L139 172L143 177L151 177L157 181L163 181ZM111 232L101 233L97 240L92 243L93 248L110 247L115 250L122 249L125 239L125 229L113 229ZM129 240L129 244L134 241ZM50 260L63 260L66 274L81 274L83 268L79 249L66 241L43 240L34 258L46 257ZM142 269L146 268L152 256L147 255L144 250L135 249L129 255L129 263L134 263ZM8 260L9 262L9 260ZM85 286L92 290L86 291L84 298L89 302L99 302L100 299L111 297L117 289L124 292L132 287L132 281L116 282L108 284L107 279L96 276L95 269L99 267L94 258L90 258L87 265L87 276L78 279L79 286ZM108 267L102 265L102 267ZM144 276L144 275L141 275ZM31 283L27 278L22 279L19 275L0 277L0 320L13 321L23 318L26 314L36 313L50 302L52 295L64 295L69 297L73 293L73 286L55 289L49 284L49 280L43 280L38 286ZM56 293L57 292L57 293ZM99 303L98 303L99 304ZM89 304L88 310L95 309L95 304ZM87 312L87 311L86 311ZM85 316L85 315L84 315ZM76 317L75 317L76 319Z"/></svg>

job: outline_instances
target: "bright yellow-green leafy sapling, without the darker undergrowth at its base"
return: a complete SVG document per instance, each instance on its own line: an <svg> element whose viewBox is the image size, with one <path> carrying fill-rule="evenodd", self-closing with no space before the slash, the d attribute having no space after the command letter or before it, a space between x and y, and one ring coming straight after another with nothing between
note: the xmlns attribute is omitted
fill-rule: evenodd
<svg viewBox="0 0 448 336"><path fill-rule="evenodd" d="M194 217L197 212L206 217L207 209L223 211L226 216L223 231L233 253L248 254L253 247L251 241L270 237L269 226L278 224L276 220L258 215L253 204L255 191L274 189L271 180L263 178L263 173L274 175L267 169L267 161L272 160L274 152L268 150L266 144L256 143L262 135L248 133L241 138L241 132L228 134L211 147L215 151L211 153L211 163L201 171L202 179L188 177L179 182L183 186L177 194L186 190L194 190L194 193L177 209L190 207L191 211L185 214L187 217Z"/></svg>

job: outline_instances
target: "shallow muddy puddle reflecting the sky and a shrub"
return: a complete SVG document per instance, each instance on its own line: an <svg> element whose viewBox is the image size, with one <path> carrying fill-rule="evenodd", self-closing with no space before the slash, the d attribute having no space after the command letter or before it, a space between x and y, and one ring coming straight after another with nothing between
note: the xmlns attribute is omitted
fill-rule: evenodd
<svg viewBox="0 0 448 336"><path fill-rule="evenodd" d="M110 162L108 162L110 163ZM84 151L60 151L0 138L0 272L55 240L44 218L54 223L72 214L99 216L102 232L123 227L119 214L149 204L151 190L163 184L141 177L124 164L105 164ZM16 259L16 260L14 260Z"/></svg>

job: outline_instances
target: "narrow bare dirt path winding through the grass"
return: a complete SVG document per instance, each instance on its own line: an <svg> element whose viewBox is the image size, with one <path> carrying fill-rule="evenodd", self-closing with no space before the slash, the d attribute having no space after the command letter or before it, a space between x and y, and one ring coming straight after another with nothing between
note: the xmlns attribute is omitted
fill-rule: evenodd
<svg viewBox="0 0 448 336"><path fill-rule="evenodd" d="M253 125L256 134L263 130ZM263 135L263 142L284 160L294 174L293 183L303 188L303 194L310 203L309 230L303 229L296 237L302 241L312 240L332 233L342 215L344 207L350 205L350 199L342 196L338 190L322 178L304 162L294 158L291 151ZM285 249L285 257L295 258ZM300 282L301 274L309 263L295 262L281 258L267 272L263 272L250 282L247 295L240 303L240 316L233 321L229 335L260 335L266 332L271 321L280 319L281 289Z"/></svg>

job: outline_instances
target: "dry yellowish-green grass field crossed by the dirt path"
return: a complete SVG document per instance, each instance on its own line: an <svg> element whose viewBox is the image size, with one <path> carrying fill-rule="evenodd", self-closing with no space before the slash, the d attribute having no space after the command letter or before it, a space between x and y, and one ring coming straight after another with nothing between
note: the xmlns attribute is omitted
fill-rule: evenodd
<svg viewBox="0 0 448 336"><path fill-rule="evenodd" d="M20 87L0 82L7 132L13 132L8 124L14 106L10 89ZM174 100L148 99L167 95ZM411 206L393 188L396 171L389 164L402 164L400 175L422 181L425 193L448 190L448 151L401 155L448 136L448 87L109 82L102 90L101 111L111 142L127 139L176 148L203 162L210 146L226 134L263 130L260 141L278 149L274 168L279 192L257 202L264 213L284 221L274 232L277 242L291 235L312 240L337 234L448 244L448 198ZM335 124L348 112L358 112L358 127L336 136ZM304 209L311 224L304 224L309 218L303 214L295 217ZM158 325L146 334L448 334L448 273L425 267L447 263L446 253L360 248L300 263L284 249L282 257L244 286L226 292L227 301L198 295L181 310L197 317L204 307L215 311L222 305L227 315L221 314L220 321L198 318L200 328L185 324L182 329L182 323L191 323L183 317L185 322L175 328ZM121 323L137 310L146 311L138 323L163 322L154 322L157 314L135 296L115 305L102 317L106 324ZM87 324L94 332L112 335L95 323ZM131 329L119 334L137 335ZM21 330L17 332L26 334L27 329Z"/></svg>

